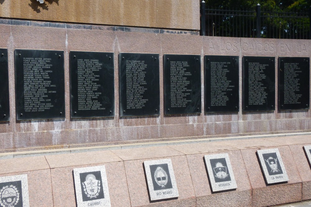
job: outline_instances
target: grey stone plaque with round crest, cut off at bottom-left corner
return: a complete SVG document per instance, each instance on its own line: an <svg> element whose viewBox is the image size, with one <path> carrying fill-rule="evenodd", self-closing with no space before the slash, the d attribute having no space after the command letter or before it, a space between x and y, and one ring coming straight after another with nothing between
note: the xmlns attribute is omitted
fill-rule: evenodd
<svg viewBox="0 0 311 207"><path fill-rule="evenodd" d="M27 175L0 177L0 206L29 207Z"/></svg>

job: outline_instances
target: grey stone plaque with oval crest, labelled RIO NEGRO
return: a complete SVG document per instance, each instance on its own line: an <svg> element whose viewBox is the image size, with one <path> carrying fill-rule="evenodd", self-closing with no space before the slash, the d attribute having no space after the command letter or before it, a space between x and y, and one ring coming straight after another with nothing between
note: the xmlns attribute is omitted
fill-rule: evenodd
<svg viewBox="0 0 311 207"><path fill-rule="evenodd" d="M150 200L179 196L171 159L144 161Z"/></svg>

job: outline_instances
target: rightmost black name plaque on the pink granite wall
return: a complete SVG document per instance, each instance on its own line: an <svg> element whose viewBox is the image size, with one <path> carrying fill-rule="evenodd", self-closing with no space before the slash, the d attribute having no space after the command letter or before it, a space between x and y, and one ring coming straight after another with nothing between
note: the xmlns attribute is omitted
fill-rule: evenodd
<svg viewBox="0 0 311 207"><path fill-rule="evenodd" d="M309 109L310 58L279 57L279 110Z"/></svg>

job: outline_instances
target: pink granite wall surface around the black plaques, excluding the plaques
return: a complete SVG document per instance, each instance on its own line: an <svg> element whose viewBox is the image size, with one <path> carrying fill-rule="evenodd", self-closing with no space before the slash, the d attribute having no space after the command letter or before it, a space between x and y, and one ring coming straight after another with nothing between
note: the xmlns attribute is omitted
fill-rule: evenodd
<svg viewBox="0 0 311 207"><path fill-rule="evenodd" d="M310 56L308 40L220 38L169 32L125 32L96 25L59 27L27 25L0 26L0 47L8 48L11 121L0 124L0 151L68 148L133 142L213 138L256 134L311 131L309 110L280 112L242 112L242 56ZM135 29L135 28L134 28ZM138 30L138 29L137 29ZM180 32L186 33L186 32ZM14 49L65 51L66 119L16 121L14 85ZM114 118L70 119L69 52L71 50L114 52ZM118 93L118 54L120 52L160 54L160 116L120 118ZM200 115L163 115L163 54L238 55L240 65L239 113ZM276 70L277 77L277 70ZM202 111L204 111L204 81ZM277 78L276 78L277 91ZM277 93L276 93L277 108Z"/></svg>

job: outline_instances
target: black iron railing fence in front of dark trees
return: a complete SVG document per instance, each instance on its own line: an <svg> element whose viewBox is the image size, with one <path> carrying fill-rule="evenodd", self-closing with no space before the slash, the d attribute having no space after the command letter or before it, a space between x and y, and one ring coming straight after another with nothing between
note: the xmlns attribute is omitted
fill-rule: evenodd
<svg viewBox="0 0 311 207"><path fill-rule="evenodd" d="M311 39L311 7L307 11L261 11L211 8L202 1L201 34L218 37Z"/></svg>

